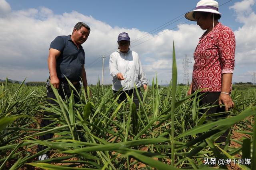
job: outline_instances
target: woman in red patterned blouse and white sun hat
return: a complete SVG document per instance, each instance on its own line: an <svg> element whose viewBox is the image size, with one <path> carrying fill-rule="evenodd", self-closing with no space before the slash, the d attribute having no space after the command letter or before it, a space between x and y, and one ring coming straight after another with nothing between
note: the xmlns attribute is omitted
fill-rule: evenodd
<svg viewBox="0 0 256 170"><path fill-rule="evenodd" d="M196 10L185 15L188 20L197 21L197 25L206 30L194 52L195 63L188 95L195 90L204 89L200 105L225 105L204 110L207 114L228 111L234 107L230 92L234 70L235 36L229 27L218 22L220 14L218 2L201 0ZM225 116L226 114L222 115Z"/></svg>

